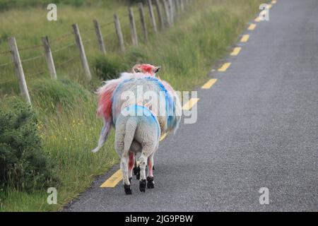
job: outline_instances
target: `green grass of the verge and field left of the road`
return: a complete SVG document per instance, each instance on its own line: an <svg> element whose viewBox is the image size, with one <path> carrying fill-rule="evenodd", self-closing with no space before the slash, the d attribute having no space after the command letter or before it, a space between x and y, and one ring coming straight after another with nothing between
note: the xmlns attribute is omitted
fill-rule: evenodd
<svg viewBox="0 0 318 226"><path fill-rule="evenodd" d="M101 24L112 21L114 11L119 12L124 28L128 25L126 6L115 1L98 6L58 6L58 21L45 20L45 8L12 9L0 14L0 52L7 49L6 38L16 36L20 47L40 44L40 37L49 35L50 39L71 32L71 23L78 23L80 30L93 28L92 19L98 18ZM237 36L247 27L247 21L255 16L259 0L206 0L194 1L187 8L172 28L150 34L150 41L144 43L139 30L139 47L130 47L129 29L124 30L127 45L126 54L119 54L118 43L114 36L113 25L103 27L107 56L122 59L130 68L139 62L162 65L160 77L169 81L176 90L192 90L206 81L206 73L218 59L230 51L237 41ZM135 9L136 10L136 9ZM30 16L32 15L32 16ZM135 13L135 18L139 15ZM136 21L139 24L139 20ZM149 21L148 21L149 23ZM150 25L148 29L150 30ZM83 40L95 38L93 30L82 32ZM73 42L73 36L66 37L61 43L52 43L52 50L59 49ZM93 72L96 58L100 58L97 42L84 44L88 61ZM41 53L41 49L25 50L21 58L27 59ZM61 64L76 56L76 48L53 53L56 64ZM0 55L0 65L11 60L10 55ZM93 90L100 85L100 80L93 73L93 81L83 80L83 71L78 57L59 66L58 81L49 79L45 71L39 75L33 73L45 70L44 59L23 63L26 80L30 89L33 107L39 115L38 131L42 138L45 152L56 162L56 170L61 185L58 190L58 205L47 205L46 191L25 194L9 189L8 196L1 201L2 211L45 211L58 210L65 203L76 197L90 186L96 175L106 172L118 162L114 153L114 135L110 136L105 148L93 155L102 121L95 117L96 99ZM12 66L1 70L0 96L18 95L18 85ZM11 81L12 80L12 81ZM8 83L3 83L9 81ZM71 82L72 81L72 82Z"/></svg>

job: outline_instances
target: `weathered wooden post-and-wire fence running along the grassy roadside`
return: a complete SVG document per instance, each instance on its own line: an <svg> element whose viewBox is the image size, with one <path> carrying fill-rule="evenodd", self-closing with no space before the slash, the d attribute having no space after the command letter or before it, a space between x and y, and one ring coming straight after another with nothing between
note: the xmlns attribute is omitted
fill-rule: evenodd
<svg viewBox="0 0 318 226"><path fill-rule="evenodd" d="M86 52L84 49L83 44L91 44L93 42L96 43L96 47L100 49L100 52L103 54L106 54L106 48L104 44L104 40L107 37L110 37L111 35L114 35L114 38L117 36L117 40L119 41L119 47L121 52L125 52L125 40L124 36L122 34L122 30L130 30L131 33L131 41L132 44L137 46L139 44L138 42L138 34L136 30L136 20L135 16L139 18L138 22L141 23L141 31L143 33L143 41L148 41L148 30L147 30L147 23L146 20L148 20L152 26L152 31L154 33L158 32L157 29L157 23L156 19L158 19L158 25L160 25L160 30L163 30L164 28L169 28L173 23L175 23L175 19L179 14L181 14L184 11L184 8L189 4L191 1L183 1L183 0L147 0L147 9L144 9L144 6L142 3L139 3L138 6L135 8L129 8L129 13L125 13L124 15L120 15L122 21L125 23L120 23L119 16L115 13L114 18L112 21L108 23L98 23L98 20L93 20L93 27L87 28L85 30L81 30L81 33L88 33L91 32L93 35L93 32L95 30L95 38L82 40L81 34L78 29L78 25L73 24L73 31L66 33L64 35L60 35L59 37L54 37L50 39L51 44L57 44L61 43L62 40L65 40L68 37L73 36L75 38L75 42L71 42L70 44L66 44L62 47L59 47L58 49L52 49L49 46L49 40L48 37L42 37L42 44L36 44L29 47L19 47L16 44L15 37L11 37L9 39L9 46L11 50L5 50L1 51L0 55L5 54L11 54L12 55L12 61L0 64L0 67L5 67L9 65L14 65L14 68L16 70L16 74L18 76L18 82L20 86L21 94L25 97L25 100L30 103L30 96L28 94L28 87L25 83L25 76L23 72L23 66L22 63L33 61L34 68L40 69L41 66L39 64L35 64L36 59L44 58L45 61L47 61L47 67L43 71L37 71L35 73L27 73L27 76L37 76L42 73L49 72L51 77L53 79L57 78L57 73L55 71L55 68L61 69L61 66L64 66L65 64L69 64L69 62L73 61L74 59L80 59L81 64L83 67L84 75L86 76L86 79L90 81L91 74L90 69L88 65L88 60L86 58ZM155 7L155 10L153 9ZM134 14L136 13L136 14ZM156 14L156 16L155 16ZM128 20L127 20L128 19ZM107 26L114 25L114 30L112 32L108 32L106 35L102 35L101 28L105 28ZM128 29L130 27L130 29ZM125 33L126 34L126 33ZM125 35L126 36L126 35ZM57 52L61 52L64 49L70 49L73 46L77 46L78 48L78 54L73 55L73 57L69 57L69 59L66 59L59 64L54 65L54 60L52 54L56 54ZM43 54L37 55L35 57L30 57L28 59L20 59L19 52L29 50L29 49L40 49L43 48ZM12 68L11 68L12 69ZM31 70L32 71L32 70ZM27 71L28 72L28 71ZM12 80L2 81L0 84L9 83Z"/></svg>

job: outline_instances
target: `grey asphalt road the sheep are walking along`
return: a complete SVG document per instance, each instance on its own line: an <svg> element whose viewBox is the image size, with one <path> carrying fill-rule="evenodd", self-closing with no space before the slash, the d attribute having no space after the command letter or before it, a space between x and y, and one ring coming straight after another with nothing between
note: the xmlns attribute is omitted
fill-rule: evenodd
<svg viewBox="0 0 318 226"><path fill-rule="evenodd" d="M278 0L245 34L230 68L198 90L196 124L160 144L155 189L100 188L117 165L65 210L317 211L318 1Z"/></svg>

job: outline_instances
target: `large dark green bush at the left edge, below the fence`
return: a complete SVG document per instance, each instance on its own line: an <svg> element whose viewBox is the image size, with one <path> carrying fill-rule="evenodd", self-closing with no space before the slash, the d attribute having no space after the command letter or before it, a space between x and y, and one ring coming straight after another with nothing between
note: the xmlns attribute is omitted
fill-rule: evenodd
<svg viewBox="0 0 318 226"><path fill-rule="evenodd" d="M57 182L42 151L35 112L18 98L6 103L7 107L1 100L0 189L10 186L29 192Z"/></svg>

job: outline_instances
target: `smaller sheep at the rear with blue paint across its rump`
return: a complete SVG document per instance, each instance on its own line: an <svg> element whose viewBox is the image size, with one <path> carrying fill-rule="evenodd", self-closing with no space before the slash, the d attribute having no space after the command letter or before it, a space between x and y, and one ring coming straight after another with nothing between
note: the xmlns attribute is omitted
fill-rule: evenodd
<svg viewBox="0 0 318 226"><path fill-rule="evenodd" d="M123 112L129 112L129 114ZM146 191L146 180L147 188L153 189L153 156L158 150L160 140L158 119L147 107L130 105L118 115L115 127L115 150L120 156L120 169L123 174L125 193L131 194L130 184L136 153L141 153L139 157L141 169L139 190ZM131 148L133 142L142 145L134 145L135 148ZM146 164L148 164L147 177Z"/></svg>

